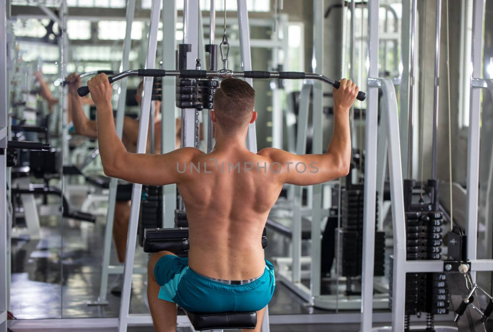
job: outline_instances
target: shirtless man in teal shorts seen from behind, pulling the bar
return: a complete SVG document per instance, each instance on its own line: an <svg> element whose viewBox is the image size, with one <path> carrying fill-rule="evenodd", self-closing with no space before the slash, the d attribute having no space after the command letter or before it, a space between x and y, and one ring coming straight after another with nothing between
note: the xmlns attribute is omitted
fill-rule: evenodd
<svg viewBox="0 0 493 332"><path fill-rule="evenodd" d="M343 79L334 89L334 134L327 152L306 155L246 149L248 124L257 113L255 91L242 80L223 80L214 95L216 143L208 154L195 148L161 155L126 151L112 121L106 75L92 78L88 87L98 111L105 173L148 185L176 183L186 207L188 258L164 251L149 260L147 296L156 331L176 331L175 303L191 312L257 311L254 331L260 331L275 288L260 241L267 216L284 183L312 185L349 173L349 109L356 85Z"/></svg>

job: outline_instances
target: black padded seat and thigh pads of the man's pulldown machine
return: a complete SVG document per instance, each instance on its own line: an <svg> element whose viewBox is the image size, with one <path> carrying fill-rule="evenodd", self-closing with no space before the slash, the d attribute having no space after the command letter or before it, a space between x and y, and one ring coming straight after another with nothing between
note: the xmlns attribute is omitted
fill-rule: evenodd
<svg viewBox="0 0 493 332"><path fill-rule="evenodd" d="M267 230L262 233L262 247L267 247ZM147 228L144 230L144 252L171 251L179 257L187 257L188 228ZM185 310L184 310L185 311ZM203 313L185 311L196 331L220 332L222 330L253 330L257 325L257 313L220 312Z"/></svg>

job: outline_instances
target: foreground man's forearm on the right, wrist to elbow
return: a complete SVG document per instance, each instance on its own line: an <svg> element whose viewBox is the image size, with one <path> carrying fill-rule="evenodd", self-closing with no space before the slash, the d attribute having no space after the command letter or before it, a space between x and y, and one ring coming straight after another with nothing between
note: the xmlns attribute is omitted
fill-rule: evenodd
<svg viewBox="0 0 493 332"><path fill-rule="evenodd" d="M349 110L334 108L334 133L326 153L335 157L341 168L349 169L351 163Z"/></svg>

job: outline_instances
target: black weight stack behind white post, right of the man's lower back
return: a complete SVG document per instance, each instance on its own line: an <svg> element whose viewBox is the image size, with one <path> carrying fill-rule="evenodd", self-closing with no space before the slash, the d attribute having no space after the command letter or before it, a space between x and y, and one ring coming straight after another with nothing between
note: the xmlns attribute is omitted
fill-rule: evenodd
<svg viewBox="0 0 493 332"><path fill-rule="evenodd" d="M342 192L341 228L336 231L336 247L340 259L337 261L342 276L361 275L363 251L364 189L362 184L353 184ZM376 207L378 217L378 206ZM374 275L385 274L385 232L375 232Z"/></svg>

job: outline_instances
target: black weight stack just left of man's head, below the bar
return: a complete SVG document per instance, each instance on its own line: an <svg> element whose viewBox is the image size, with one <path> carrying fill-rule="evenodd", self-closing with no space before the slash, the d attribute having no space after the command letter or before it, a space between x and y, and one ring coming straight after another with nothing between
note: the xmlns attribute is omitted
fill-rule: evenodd
<svg viewBox="0 0 493 332"><path fill-rule="evenodd" d="M212 109L213 98L219 81L211 79L176 80L176 107Z"/></svg>

